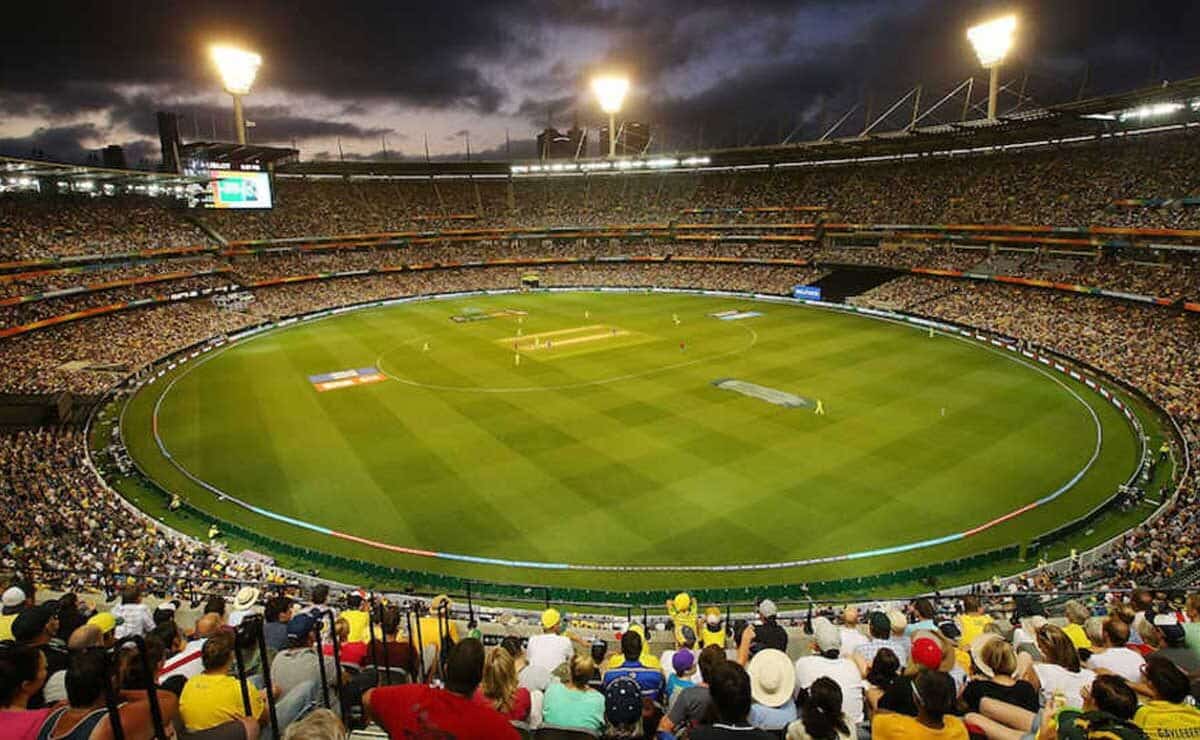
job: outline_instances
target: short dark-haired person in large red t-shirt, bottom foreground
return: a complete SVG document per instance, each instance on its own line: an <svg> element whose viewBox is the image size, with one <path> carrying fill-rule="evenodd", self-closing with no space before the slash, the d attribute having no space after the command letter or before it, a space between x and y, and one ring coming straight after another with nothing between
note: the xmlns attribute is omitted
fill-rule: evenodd
<svg viewBox="0 0 1200 740"><path fill-rule="evenodd" d="M443 736L518 738L498 711L472 697L484 678L484 644L475 638L457 643L446 656L445 688L406 684L372 688L362 697L368 716L391 738Z"/></svg>

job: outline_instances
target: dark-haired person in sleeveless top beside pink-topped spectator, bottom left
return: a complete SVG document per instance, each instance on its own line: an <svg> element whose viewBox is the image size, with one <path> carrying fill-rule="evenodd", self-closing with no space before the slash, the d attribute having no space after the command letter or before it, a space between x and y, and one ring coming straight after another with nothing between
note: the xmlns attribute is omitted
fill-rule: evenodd
<svg viewBox="0 0 1200 740"><path fill-rule="evenodd" d="M102 650L83 650L71 655L67 667L67 704L53 710L42 724L43 738L109 738L113 728L104 705L112 675ZM144 691L121 691L118 714L127 740L150 740L155 735L150 700ZM179 714L179 702L169 691L157 692L163 724Z"/></svg>

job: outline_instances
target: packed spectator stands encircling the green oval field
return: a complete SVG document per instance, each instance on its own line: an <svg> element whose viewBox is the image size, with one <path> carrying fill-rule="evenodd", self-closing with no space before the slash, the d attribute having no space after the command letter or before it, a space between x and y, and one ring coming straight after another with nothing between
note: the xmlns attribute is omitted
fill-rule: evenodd
<svg viewBox="0 0 1200 740"><path fill-rule="evenodd" d="M281 178L270 212L197 216L226 245L191 223L192 215L156 201L4 195L0 260L482 227L836 218L1196 228L1200 211L1193 207L1118 205L1193 194L1200 170L1195 136L992 155L986 167L947 158L766 174ZM788 210L800 204L804 210ZM1139 246L1079 255L937 243L595 237L440 239L256 254L239 247L83 272L0 276L0 290L14 297L221 271L2 306L0 329L164 294L241 285L253 296L228 307L205 295L0 338L0 392L100 397L157 359L264 321L400 296L515 289L530 271L541 287L790 295L794 285L857 265L1019 276L1172 301L1200 297L1194 257L1144 254ZM698 259L612 259L630 255ZM400 265L545 258L612 261L404 269L268 284ZM1098 368L1180 422L1200 463L1196 315L919 275L890 277L852 301L1004 335ZM346 727L365 726L394 738L542 736L541 729L695 740L1200 738L1200 595L1180 590L1194 583L1200 554L1194 479L1182 482L1159 517L1086 562L1039 567L1007 585L997 579L965 597L810 603L799 612L762 600L754 613L732 620L716 604L679 594L666 615L642 624L601 615L572 626L557 607L536 614L480 609L476 620L474 609L464 614L445 597L389 600L348 588L330 597L328 584L301 586L311 579L230 552L220 536L198 542L156 527L118 498L85 457L84 433L74 428L0 438L0 565L12 574L12 585L0 589L0 639L11 640L0 649L6 738L107 738L113 717L126 736L149 738L156 716L180 736L206 739L341 738ZM1165 583L1178 589L1147 590ZM1050 594L1061 590L1088 595L1061 603ZM402 619L410 609L420 612L415 622ZM414 630L421 624L424 634ZM260 650L254 630L263 636ZM144 638L139 649L151 674L119 650L115 681L126 693L106 711L110 666L96 648L130 636Z"/></svg>

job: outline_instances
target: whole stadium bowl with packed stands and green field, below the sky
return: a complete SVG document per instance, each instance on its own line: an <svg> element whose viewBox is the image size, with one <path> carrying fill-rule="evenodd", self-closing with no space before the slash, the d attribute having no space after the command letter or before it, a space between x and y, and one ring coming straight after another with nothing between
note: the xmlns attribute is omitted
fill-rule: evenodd
<svg viewBox="0 0 1200 740"><path fill-rule="evenodd" d="M179 156L0 158L0 735L1200 736L1200 78Z"/></svg>

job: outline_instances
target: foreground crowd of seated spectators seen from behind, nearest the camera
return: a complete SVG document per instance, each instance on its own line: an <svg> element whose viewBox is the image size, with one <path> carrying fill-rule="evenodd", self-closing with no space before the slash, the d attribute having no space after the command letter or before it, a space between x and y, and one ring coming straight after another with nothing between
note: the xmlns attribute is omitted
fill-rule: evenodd
<svg viewBox="0 0 1200 740"><path fill-rule="evenodd" d="M642 624L572 627L554 607L529 615L536 626L485 616L491 646L476 622L460 632L445 596L416 606L426 627L416 634L386 597L331 598L324 585L229 586L191 609L169 588L132 579L115 606L101 594L41 603L35 594L18 580L2 595L0 632L13 642L0 650L0 730L18 740L89 711L97 723L119 716L126 736L149 736L148 691L167 724L220 738L341 740L370 723L392 738L462 740L540 729L660 740L1200 733L1200 596L1182 592L1134 590L1054 613L1024 594L806 614L758 600L732 624L682 592L667 615ZM114 646L128 637L144 640L149 674ZM652 644L666 648L661 657ZM108 712L106 680L124 692Z"/></svg>

